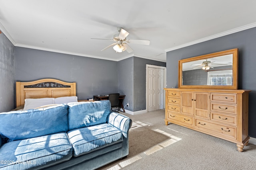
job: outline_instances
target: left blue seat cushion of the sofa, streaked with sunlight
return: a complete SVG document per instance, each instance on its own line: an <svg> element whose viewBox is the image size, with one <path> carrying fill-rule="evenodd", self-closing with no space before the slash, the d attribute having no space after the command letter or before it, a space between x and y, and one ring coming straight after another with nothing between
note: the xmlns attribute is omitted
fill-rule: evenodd
<svg viewBox="0 0 256 170"><path fill-rule="evenodd" d="M0 168L40 169L69 160L72 146L67 134L62 132L5 143L0 153L0 160L6 160L0 162Z"/></svg>

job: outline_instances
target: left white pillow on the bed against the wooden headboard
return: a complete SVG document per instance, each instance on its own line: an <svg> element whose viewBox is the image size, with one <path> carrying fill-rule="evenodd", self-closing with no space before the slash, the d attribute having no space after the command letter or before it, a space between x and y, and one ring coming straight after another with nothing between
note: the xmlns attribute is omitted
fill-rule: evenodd
<svg viewBox="0 0 256 170"><path fill-rule="evenodd" d="M35 109L48 104L54 104L54 98L25 99L23 110Z"/></svg>

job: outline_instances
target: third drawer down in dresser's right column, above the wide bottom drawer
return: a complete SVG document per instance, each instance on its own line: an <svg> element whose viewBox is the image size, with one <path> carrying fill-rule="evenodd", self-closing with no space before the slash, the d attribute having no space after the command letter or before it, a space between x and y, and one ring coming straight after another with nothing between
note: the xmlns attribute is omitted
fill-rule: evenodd
<svg viewBox="0 0 256 170"><path fill-rule="evenodd" d="M236 126L236 115L211 112L211 120Z"/></svg>

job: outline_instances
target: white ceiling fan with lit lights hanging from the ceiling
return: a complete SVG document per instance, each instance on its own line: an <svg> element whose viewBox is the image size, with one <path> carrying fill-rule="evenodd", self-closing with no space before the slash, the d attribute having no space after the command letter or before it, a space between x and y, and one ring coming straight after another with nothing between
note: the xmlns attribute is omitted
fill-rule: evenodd
<svg viewBox="0 0 256 170"><path fill-rule="evenodd" d="M113 46L113 49L116 51L116 53L121 53L123 51L127 51L128 53L131 53L133 49L127 44L127 43L134 43L134 44L141 44L141 45L149 45L150 40L143 40L143 39L126 39L126 37L129 35L128 31L124 30L121 27L117 27L117 31L119 33L115 34L113 39L103 39L103 40L110 40L110 41L116 41L115 43L109 45L108 47L102 49L106 50L109 47ZM99 39L99 38L91 38L91 39Z"/></svg>

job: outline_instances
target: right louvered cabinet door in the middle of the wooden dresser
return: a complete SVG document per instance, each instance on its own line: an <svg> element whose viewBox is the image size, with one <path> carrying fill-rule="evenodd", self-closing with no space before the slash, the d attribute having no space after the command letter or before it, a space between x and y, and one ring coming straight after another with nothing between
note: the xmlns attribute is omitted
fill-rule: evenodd
<svg viewBox="0 0 256 170"><path fill-rule="evenodd" d="M209 113L209 93L194 93L194 116L204 119L210 118Z"/></svg>

